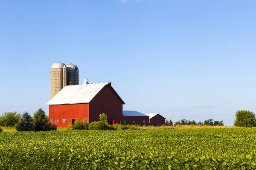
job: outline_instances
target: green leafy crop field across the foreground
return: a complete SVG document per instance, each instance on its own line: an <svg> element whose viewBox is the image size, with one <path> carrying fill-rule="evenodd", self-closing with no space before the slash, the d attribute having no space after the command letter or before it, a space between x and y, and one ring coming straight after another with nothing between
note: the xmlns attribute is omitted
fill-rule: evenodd
<svg viewBox="0 0 256 170"><path fill-rule="evenodd" d="M0 133L0 170L255 168L256 128Z"/></svg>

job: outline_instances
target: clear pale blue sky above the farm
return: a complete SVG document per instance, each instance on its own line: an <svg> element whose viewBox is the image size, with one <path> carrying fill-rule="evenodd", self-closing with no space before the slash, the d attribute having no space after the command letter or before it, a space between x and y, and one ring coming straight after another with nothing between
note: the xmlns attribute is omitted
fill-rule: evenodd
<svg viewBox="0 0 256 170"><path fill-rule="evenodd" d="M0 113L51 98L54 62L111 81L124 110L223 120L256 111L253 0L0 1Z"/></svg>

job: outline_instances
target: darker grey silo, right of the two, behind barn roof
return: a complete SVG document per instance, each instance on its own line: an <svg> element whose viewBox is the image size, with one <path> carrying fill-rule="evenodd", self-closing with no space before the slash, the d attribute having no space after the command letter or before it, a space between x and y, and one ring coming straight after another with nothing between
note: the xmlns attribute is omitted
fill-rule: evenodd
<svg viewBox="0 0 256 170"><path fill-rule="evenodd" d="M74 64L67 65L67 85L79 84L79 70Z"/></svg>

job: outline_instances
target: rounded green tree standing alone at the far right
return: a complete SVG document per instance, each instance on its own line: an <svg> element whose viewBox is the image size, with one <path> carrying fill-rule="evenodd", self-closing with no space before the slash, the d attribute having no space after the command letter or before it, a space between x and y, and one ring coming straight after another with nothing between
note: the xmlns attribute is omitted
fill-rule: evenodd
<svg viewBox="0 0 256 170"><path fill-rule="evenodd" d="M252 111L247 111L247 110L237 111L234 126L255 127L256 126L255 114Z"/></svg>

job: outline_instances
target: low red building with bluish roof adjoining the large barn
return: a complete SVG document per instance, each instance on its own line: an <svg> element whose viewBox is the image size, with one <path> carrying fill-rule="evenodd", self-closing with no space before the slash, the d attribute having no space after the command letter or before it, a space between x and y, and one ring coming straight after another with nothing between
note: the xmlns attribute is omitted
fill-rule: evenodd
<svg viewBox="0 0 256 170"><path fill-rule="evenodd" d="M123 111L122 123L130 125L148 125L148 116L137 111Z"/></svg>

